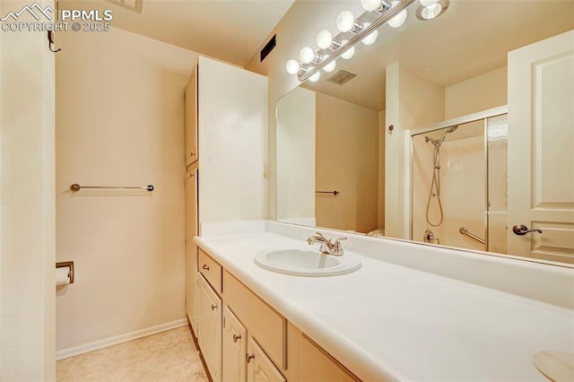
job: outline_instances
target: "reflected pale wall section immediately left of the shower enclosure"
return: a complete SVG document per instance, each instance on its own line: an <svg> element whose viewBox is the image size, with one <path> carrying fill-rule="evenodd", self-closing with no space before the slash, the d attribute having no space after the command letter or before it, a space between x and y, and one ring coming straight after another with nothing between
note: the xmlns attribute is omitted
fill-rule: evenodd
<svg viewBox="0 0 574 382"><path fill-rule="evenodd" d="M396 63L387 66L387 126L392 135L385 142L385 234L409 238L409 178L405 131L444 119L444 88Z"/></svg>

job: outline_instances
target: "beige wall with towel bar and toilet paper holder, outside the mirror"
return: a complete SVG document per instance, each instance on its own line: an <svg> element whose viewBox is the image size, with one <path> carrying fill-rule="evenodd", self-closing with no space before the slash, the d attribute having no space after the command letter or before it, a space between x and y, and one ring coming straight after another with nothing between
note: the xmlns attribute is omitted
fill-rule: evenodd
<svg viewBox="0 0 574 382"><path fill-rule="evenodd" d="M124 30L59 33L60 356L185 322L184 89L194 52ZM87 186L155 190L73 194Z"/></svg>

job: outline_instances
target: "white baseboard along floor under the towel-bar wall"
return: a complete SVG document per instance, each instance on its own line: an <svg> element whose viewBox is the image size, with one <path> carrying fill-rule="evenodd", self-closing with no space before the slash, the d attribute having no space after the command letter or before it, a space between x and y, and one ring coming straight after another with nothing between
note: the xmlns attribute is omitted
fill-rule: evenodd
<svg viewBox="0 0 574 382"><path fill-rule="evenodd" d="M74 355L83 354L85 352L93 352L111 345L117 345L117 343L126 343L127 341L132 341L137 338L142 338L148 335L158 334L170 329L175 329L179 326L187 326L187 318L181 318L175 321L171 321L158 326L148 327L131 333L116 335L115 337L109 337L100 341L95 341L93 343L86 343L80 346L74 346L72 348L61 349L56 352L56 360L64 360L65 358L74 357Z"/></svg>

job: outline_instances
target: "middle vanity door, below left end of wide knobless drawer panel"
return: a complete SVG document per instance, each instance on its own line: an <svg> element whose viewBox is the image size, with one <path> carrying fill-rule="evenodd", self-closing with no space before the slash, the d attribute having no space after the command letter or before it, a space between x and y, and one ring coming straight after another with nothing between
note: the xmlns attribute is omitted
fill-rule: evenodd
<svg viewBox="0 0 574 382"><path fill-rule="evenodd" d="M228 306L223 309L222 379L245 382L247 380L247 331Z"/></svg>

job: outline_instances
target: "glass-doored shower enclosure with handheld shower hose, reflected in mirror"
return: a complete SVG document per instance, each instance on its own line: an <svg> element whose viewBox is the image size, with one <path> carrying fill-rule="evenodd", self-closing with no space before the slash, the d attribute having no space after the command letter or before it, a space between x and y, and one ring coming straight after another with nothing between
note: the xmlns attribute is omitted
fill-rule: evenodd
<svg viewBox="0 0 574 382"><path fill-rule="evenodd" d="M506 108L411 135L411 239L506 253Z"/></svg>

